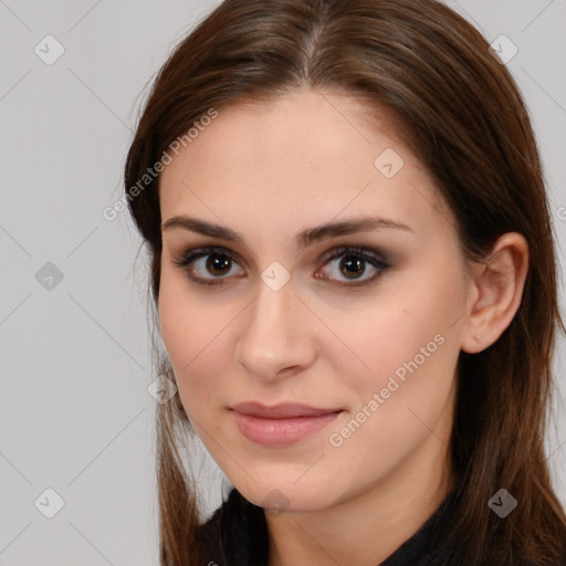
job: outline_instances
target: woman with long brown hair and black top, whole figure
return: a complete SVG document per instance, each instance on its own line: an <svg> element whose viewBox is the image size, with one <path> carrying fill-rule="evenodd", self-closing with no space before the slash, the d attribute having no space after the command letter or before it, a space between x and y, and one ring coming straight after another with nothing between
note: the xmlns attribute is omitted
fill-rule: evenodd
<svg viewBox="0 0 566 566"><path fill-rule="evenodd" d="M163 565L566 564L555 251L501 63L436 1L227 0L163 66L125 168L178 388ZM209 521L190 431L233 485Z"/></svg>

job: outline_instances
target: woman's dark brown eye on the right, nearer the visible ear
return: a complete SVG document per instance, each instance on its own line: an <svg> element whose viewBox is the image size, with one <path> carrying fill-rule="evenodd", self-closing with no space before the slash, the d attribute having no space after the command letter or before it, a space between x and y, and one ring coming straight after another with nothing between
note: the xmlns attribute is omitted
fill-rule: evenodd
<svg viewBox="0 0 566 566"><path fill-rule="evenodd" d="M317 279L339 280L339 275L343 275L347 283L340 284L359 286L374 281L384 271L390 268L380 253L365 248L342 247L333 250L331 253L331 256L325 260L325 265L332 264L336 260L340 261L329 270L329 275L323 274ZM368 264L370 268L369 270L367 269ZM374 272L373 276L363 277L368 271Z"/></svg>

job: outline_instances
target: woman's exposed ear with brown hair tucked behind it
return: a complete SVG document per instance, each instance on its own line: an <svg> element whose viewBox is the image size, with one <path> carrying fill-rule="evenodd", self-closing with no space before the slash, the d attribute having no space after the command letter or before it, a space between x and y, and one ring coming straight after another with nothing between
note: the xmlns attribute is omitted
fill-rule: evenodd
<svg viewBox="0 0 566 566"><path fill-rule="evenodd" d="M500 237L485 261L473 269L473 306L462 331L461 349L476 354L494 344L521 304L528 271L528 244L518 232Z"/></svg>

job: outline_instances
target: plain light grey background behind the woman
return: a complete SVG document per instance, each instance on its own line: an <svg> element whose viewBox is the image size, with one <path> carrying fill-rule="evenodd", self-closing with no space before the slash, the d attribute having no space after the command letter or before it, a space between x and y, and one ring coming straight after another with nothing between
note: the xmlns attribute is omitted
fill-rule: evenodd
<svg viewBox="0 0 566 566"><path fill-rule="evenodd" d="M0 565L158 563L146 263L127 213L102 211L120 196L148 82L217 3L0 0ZM507 65L536 127L562 277L566 1L448 3L518 48ZM34 52L48 34L65 50L52 65ZM564 355L560 337L563 398ZM548 453L566 504L563 401L557 412ZM207 478L210 511L221 474ZM53 518L49 488L64 501Z"/></svg>

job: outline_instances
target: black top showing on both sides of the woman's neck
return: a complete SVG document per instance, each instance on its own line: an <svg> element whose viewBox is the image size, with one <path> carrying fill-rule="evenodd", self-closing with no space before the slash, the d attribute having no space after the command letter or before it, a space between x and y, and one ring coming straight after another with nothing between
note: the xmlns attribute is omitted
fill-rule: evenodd
<svg viewBox="0 0 566 566"><path fill-rule="evenodd" d="M465 566L465 557L454 558L454 554L458 554L458 542L440 539L442 527L446 531L448 525L455 523L455 492L451 492L417 533L376 566ZM235 488L202 525L199 538L210 549L208 564L268 565L269 538L263 509L249 502ZM517 562L517 566L525 564ZM565 565L566 560L560 560L556 566Z"/></svg>

